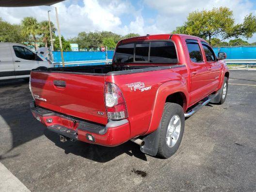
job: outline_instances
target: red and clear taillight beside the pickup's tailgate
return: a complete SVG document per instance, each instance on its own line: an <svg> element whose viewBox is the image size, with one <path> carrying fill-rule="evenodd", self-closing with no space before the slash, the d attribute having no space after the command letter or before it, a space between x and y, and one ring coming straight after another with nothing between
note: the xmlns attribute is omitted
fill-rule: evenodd
<svg viewBox="0 0 256 192"><path fill-rule="evenodd" d="M128 117L124 96L114 83L105 84L105 105L108 119L119 120Z"/></svg>

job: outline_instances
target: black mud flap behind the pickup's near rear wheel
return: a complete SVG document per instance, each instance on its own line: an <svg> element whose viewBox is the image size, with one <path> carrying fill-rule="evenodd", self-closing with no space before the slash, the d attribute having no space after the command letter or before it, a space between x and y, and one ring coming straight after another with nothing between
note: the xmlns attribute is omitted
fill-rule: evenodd
<svg viewBox="0 0 256 192"><path fill-rule="evenodd" d="M160 138L160 126L154 132L146 135L142 140L145 142L143 146L141 146L141 152L156 156L158 152L158 143Z"/></svg>

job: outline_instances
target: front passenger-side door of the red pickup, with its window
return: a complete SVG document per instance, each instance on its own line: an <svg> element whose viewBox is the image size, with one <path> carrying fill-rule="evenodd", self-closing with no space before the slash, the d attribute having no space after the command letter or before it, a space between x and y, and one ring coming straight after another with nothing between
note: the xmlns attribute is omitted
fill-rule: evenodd
<svg viewBox="0 0 256 192"><path fill-rule="evenodd" d="M213 92L219 86L219 78L221 75L221 64L217 61L212 48L205 41L201 41L202 48L204 49L205 61L209 65L209 75L210 80L209 89Z"/></svg>

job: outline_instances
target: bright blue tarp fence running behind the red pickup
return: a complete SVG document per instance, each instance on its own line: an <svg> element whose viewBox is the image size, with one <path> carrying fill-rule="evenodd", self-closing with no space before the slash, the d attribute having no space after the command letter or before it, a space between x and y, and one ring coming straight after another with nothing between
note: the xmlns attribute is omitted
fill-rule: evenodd
<svg viewBox="0 0 256 192"><path fill-rule="evenodd" d="M240 60L240 59L256 59L256 47L221 47L221 48L213 48L216 55L218 52L225 52L227 54L227 58L229 60ZM54 63L62 62L61 60L61 52L60 51L53 51L53 58ZM64 51L64 61L65 64L68 62L80 62L81 61L99 61L104 60L106 61L106 52L101 51ZM108 59L111 60L113 58L114 51L107 51ZM84 65L93 65L99 63L86 63ZM73 64L75 66L76 64ZM57 65L56 65L57 66ZM70 65L69 65L70 66Z"/></svg>

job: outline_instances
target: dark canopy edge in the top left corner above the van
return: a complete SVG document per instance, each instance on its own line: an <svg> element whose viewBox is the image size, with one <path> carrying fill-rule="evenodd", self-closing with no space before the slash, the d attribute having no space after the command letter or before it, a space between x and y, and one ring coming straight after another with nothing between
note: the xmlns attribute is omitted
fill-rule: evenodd
<svg viewBox="0 0 256 192"><path fill-rule="evenodd" d="M63 0L0 0L0 7L30 7L52 5Z"/></svg>

